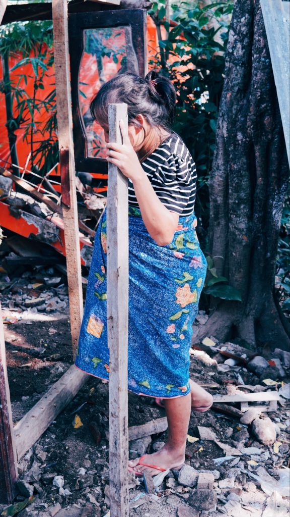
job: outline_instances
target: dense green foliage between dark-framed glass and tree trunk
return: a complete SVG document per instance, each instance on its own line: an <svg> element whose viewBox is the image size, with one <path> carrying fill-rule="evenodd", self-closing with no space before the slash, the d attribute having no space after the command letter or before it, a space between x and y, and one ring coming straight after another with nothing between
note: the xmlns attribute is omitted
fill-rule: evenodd
<svg viewBox="0 0 290 517"><path fill-rule="evenodd" d="M202 221L201 244L207 248L209 220L208 177L212 168L219 101L223 86L233 1L200 7L200 2L172 4L171 24L166 21L166 0L153 3L151 14L159 34L157 68L171 79L178 103L174 130L185 141L197 165L196 215ZM215 26L208 26L212 21ZM172 26L173 23L173 26ZM161 40L158 27L168 37ZM218 37L219 36L219 37ZM156 66L156 61L151 62Z"/></svg>

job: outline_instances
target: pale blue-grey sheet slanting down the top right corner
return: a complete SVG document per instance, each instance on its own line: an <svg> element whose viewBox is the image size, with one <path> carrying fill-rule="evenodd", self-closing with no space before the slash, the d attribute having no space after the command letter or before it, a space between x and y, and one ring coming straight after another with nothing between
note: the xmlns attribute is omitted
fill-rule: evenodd
<svg viewBox="0 0 290 517"><path fill-rule="evenodd" d="M260 0L290 164L290 3Z"/></svg>

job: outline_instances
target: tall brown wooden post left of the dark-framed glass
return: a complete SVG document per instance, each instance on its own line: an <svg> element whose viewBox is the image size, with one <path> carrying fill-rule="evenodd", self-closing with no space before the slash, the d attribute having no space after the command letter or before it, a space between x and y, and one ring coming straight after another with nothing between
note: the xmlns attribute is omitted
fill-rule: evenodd
<svg viewBox="0 0 290 517"><path fill-rule="evenodd" d="M62 214L67 250L71 335L75 356L83 317L83 291L72 135L67 0L52 0L52 15Z"/></svg>

